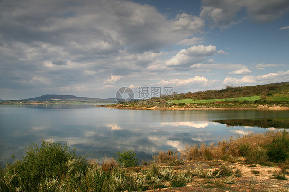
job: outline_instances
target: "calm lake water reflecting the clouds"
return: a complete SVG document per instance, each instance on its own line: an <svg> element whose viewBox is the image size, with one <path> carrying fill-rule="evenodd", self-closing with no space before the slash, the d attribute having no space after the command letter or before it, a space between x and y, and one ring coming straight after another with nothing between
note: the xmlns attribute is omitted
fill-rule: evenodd
<svg viewBox="0 0 289 192"><path fill-rule="evenodd" d="M89 104L91 105L91 104ZM78 155L113 157L123 149L140 159L168 148L209 144L231 136L273 128L226 126L227 119L289 118L289 111L268 110L126 110L88 104L0 106L0 164L24 155L25 147L41 140L68 143Z"/></svg>

